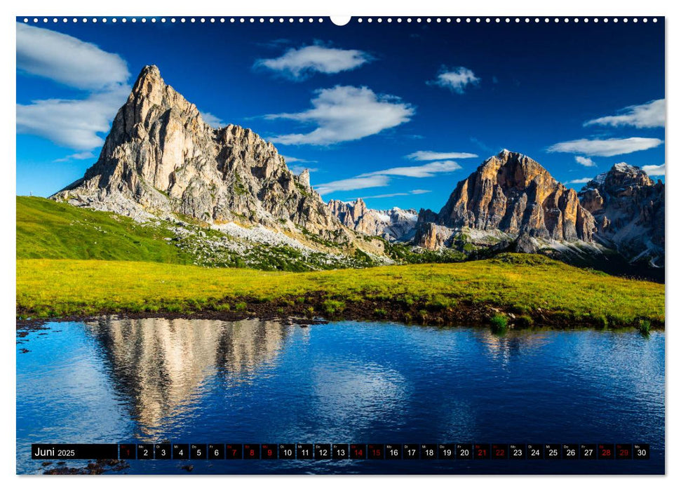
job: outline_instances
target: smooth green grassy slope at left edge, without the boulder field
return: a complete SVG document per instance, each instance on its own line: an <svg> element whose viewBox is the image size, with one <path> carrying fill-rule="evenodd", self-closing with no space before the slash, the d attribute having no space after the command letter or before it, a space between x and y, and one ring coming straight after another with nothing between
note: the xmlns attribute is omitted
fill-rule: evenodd
<svg viewBox="0 0 681 491"><path fill-rule="evenodd" d="M127 217L17 196L17 259L95 259L189 264L162 228Z"/></svg>

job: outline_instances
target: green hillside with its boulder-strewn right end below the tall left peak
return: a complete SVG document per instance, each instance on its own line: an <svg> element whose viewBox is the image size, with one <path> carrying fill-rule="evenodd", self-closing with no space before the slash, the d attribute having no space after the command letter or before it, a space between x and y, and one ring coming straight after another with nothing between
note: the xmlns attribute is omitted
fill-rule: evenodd
<svg viewBox="0 0 681 491"><path fill-rule="evenodd" d="M173 231L173 222L142 225L114 213L18 196L17 259L151 261L269 271L376 264L359 251L347 257L302 251L288 245L239 240L194 223L189 217L182 217L182 222L183 232L178 233Z"/></svg>

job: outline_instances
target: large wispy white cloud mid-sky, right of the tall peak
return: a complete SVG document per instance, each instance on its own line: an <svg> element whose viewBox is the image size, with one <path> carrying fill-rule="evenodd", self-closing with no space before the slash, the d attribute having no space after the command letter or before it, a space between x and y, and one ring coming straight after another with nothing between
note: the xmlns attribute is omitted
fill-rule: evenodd
<svg viewBox="0 0 681 491"><path fill-rule="evenodd" d="M271 138L282 144L325 145L359 140L410 120L414 108L393 95L378 95L368 87L335 86L316 90L312 109L298 113L268 114L267 119L313 123L311 133Z"/></svg>

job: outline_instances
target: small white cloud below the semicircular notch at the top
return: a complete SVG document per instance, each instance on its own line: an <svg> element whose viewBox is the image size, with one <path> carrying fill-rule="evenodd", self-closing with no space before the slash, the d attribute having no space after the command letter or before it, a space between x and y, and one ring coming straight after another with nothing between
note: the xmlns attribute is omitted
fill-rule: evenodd
<svg viewBox="0 0 681 491"><path fill-rule="evenodd" d="M257 60L254 66L280 72L290 79L302 80L315 72L323 74L346 72L370 60L371 57L363 51L313 45L291 48L279 58Z"/></svg>

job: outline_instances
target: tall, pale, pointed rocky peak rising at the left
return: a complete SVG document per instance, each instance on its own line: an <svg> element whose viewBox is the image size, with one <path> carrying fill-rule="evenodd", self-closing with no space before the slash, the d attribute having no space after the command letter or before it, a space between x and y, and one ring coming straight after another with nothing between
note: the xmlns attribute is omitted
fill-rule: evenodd
<svg viewBox="0 0 681 491"><path fill-rule="evenodd" d="M182 214L349 238L309 173L293 174L248 128L208 126L154 65L137 77L97 162L53 198L133 217Z"/></svg>

